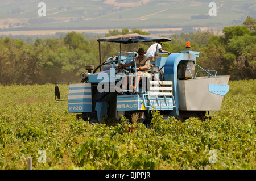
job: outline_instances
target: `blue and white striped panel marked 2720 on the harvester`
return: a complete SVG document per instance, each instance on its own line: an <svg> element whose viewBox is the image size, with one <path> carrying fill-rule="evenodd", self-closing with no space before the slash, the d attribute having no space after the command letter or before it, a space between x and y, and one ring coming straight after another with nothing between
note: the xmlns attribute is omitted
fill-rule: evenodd
<svg viewBox="0 0 256 181"><path fill-rule="evenodd" d="M68 112L92 112L92 90L90 83L77 83L69 86Z"/></svg>

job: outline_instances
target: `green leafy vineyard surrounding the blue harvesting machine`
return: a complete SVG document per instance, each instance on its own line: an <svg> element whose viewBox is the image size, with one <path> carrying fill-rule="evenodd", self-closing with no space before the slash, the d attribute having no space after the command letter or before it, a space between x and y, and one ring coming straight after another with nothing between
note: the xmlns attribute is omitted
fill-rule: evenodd
<svg viewBox="0 0 256 181"><path fill-rule="evenodd" d="M254 170L256 79L229 86L211 120L163 120L155 112L148 129L125 117L115 127L75 120L52 84L0 85L0 170L27 169L28 157L34 170Z"/></svg>

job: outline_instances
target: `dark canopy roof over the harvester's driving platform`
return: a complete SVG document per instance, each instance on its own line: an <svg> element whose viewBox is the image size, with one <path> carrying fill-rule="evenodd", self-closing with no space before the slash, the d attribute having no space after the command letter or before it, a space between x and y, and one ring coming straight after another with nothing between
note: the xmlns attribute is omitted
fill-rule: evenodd
<svg viewBox="0 0 256 181"><path fill-rule="evenodd" d="M165 42L165 41L171 41L171 39L167 37L160 37L160 36L152 36L152 35L139 35L137 33L134 34L127 34L127 35L117 35L117 36L109 36L104 37L102 39L98 39L97 41L108 41L108 42L116 42L116 43L137 43L139 41L142 42L150 42L150 41L156 41L156 42Z"/></svg>

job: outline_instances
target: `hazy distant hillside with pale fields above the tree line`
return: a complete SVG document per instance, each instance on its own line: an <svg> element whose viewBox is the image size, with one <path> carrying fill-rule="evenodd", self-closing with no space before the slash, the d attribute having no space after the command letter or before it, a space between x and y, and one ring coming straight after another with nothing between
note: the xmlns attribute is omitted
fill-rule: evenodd
<svg viewBox="0 0 256 181"><path fill-rule="evenodd" d="M46 16L39 16L39 2ZM113 28L193 28L242 24L256 18L254 0L8 0L0 2L0 31Z"/></svg>

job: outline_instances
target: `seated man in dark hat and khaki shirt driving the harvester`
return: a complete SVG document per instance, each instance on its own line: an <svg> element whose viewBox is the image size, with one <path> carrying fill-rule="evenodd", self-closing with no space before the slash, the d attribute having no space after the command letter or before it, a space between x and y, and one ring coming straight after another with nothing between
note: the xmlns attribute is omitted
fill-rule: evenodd
<svg viewBox="0 0 256 181"><path fill-rule="evenodd" d="M150 69L150 60L147 56L145 56L144 54L146 53L144 51L143 48L139 48L138 51L136 51L138 53L138 57L135 57L134 60L136 62L136 70L137 70L137 83L139 83L139 79L141 77L150 77L150 73L148 73L148 71L151 71ZM118 65L117 68L121 68L121 67L129 67L129 66L132 66L134 67L134 64L135 64L134 61L131 61L130 63L127 63L127 64L121 64L121 65ZM127 80L128 80L129 77L127 77ZM124 83L123 85L127 85L127 81L126 80L126 83ZM134 86L133 85L129 85L129 90L133 89L135 90L136 89L136 83L134 82ZM125 87L126 89L126 87Z"/></svg>

